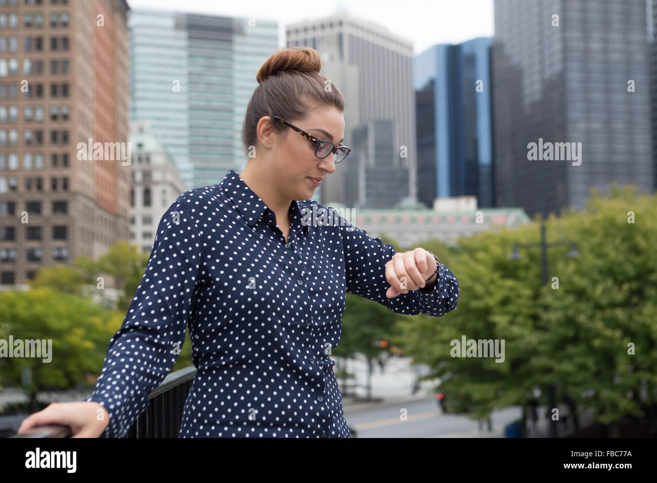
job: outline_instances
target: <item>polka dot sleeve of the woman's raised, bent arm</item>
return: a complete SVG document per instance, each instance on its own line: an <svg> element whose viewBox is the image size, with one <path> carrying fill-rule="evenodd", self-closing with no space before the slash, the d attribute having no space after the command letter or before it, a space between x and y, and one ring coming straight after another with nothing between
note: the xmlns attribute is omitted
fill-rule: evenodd
<svg viewBox="0 0 657 483"><path fill-rule="evenodd" d="M459 282L445 265L440 264L438 280L425 294L418 288L406 294L388 298L390 283L386 279L386 263L392 260L396 250L392 244L373 239L340 216L340 233L344 248L347 292L369 298L396 313L407 315L431 315L440 317L456 308L459 300Z"/></svg>

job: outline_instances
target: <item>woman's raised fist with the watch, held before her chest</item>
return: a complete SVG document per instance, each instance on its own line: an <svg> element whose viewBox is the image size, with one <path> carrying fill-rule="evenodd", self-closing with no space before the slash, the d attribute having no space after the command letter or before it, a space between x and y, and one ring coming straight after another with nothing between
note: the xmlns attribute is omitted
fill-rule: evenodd
<svg viewBox="0 0 657 483"><path fill-rule="evenodd" d="M424 287L424 281L435 270L436 259L424 248L394 254L386 263L386 280L390 283L386 297L394 298Z"/></svg>

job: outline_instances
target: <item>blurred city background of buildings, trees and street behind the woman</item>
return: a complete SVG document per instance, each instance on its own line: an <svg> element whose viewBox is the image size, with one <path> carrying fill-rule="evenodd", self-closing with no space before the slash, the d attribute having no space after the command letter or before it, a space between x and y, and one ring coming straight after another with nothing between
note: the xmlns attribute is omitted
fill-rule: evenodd
<svg viewBox="0 0 657 483"><path fill-rule="evenodd" d="M307 45L352 149L313 199L461 288L440 318L347 295L354 434L655 436L655 24L657 0L0 0L0 435L91 394L162 215L241 172L258 68Z"/></svg>

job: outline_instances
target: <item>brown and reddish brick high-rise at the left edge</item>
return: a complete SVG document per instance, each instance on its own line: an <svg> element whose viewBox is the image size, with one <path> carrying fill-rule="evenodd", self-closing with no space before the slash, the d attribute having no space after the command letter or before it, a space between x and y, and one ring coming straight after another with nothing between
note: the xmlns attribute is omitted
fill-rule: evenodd
<svg viewBox="0 0 657 483"><path fill-rule="evenodd" d="M0 1L0 283L129 232L124 0ZM89 158L78 143L111 145ZM118 149L118 150L117 150Z"/></svg>

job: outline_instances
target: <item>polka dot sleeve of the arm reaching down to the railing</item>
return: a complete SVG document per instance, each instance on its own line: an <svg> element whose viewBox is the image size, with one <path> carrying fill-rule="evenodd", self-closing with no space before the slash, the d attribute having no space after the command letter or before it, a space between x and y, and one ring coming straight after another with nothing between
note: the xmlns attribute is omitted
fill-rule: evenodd
<svg viewBox="0 0 657 483"><path fill-rule="evenodd" d="M125 436L180 354L201 259L192 205L183 193L160 219L141 283L85 400L109 413L101 438Z"/></svg>

